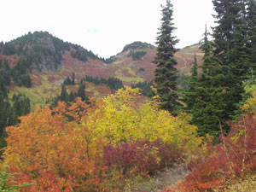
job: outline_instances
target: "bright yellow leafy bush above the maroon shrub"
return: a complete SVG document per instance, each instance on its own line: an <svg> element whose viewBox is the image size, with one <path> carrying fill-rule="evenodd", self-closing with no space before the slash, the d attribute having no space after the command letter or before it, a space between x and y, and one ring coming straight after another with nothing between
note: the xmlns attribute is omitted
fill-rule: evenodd
<svg viewBox="0 0 256 192"><path fill-rule="evenodd" d="M139 91L125 87L110 95L95 110L82 119L80 126L90 130L92 137L104 138L108 143L135 142L160 138L165 143L177 143L180 148L194 148L201 139L195 137L196 127L189 125L189 117L180 117L157 108L156 102L138 103Z"/></svg>

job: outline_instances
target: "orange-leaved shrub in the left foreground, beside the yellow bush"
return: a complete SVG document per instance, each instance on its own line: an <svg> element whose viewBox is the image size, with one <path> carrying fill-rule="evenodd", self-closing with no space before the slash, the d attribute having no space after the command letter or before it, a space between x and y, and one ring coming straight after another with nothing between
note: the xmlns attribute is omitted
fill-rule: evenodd
<svg viewBox="0 0 256 192"><path fill-rule="evenodd" d="M84 108L88 108L88 105L78 99L68 108L66 103L60 102L53 110L45 106L21 117L17 127L7 128L6 164L26 173L32 180L36 178L38 186L44 191L71 191L67 186L70 177L74 177L76 183L81 183L77 178L86 179L86 174L95 169L94 161L85 153L88 149L84 140L87 132L75 129L76 122L85 113ZM69 121L70 117L75 121ZM90 154L100 156L98 151L101 150L96 149L98 147L95 145L95 152ZM71 180L70 184L76 186ZM61 186L60 190L55 188L56 185Z"/></svg>

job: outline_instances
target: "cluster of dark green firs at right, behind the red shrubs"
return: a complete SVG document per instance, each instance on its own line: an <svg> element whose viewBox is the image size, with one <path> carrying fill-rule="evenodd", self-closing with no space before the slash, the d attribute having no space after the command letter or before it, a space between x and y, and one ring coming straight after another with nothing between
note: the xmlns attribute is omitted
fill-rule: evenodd
<svg viewBox="0 0 256 192"><path fill-rule="evenodd" d="M201 73L193 68L183 100L186 111L193 114L192 123L198 134L218 136L220 126L234 117L244 90L242 82L250 79L256 69L255 24L253 0L212 0L217 26L213 27L214 49L207 40L207 30L201 49L205 53ZM236 117L236 116L235 116Z"/></svg>

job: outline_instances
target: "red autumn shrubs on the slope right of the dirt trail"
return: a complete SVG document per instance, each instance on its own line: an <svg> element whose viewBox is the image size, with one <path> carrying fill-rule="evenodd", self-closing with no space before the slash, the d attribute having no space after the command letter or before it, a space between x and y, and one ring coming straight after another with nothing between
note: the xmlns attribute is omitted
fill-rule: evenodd
<svg viewBox="0 0 256 192"><path fill-rule="evenodd" d="M256 170L256 114L247 111L230 123L227 137L221 135L222 143L215 151L195 166L186 177L180 191L224 190L237 178Z"/></svg>

